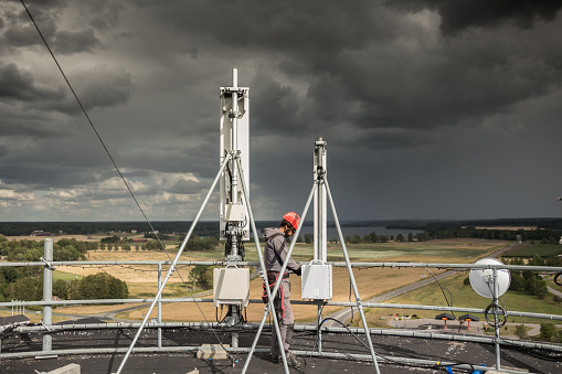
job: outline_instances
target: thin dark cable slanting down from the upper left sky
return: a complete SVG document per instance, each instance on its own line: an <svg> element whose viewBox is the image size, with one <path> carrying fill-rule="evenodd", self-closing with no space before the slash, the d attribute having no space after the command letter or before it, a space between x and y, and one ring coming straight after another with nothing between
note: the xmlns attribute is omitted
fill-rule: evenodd
<svg viewBox="0 0 562 374"><path fill-rule="evenodd" d="M163 249L163 252L166 253L166 256L168 256L168 259L171 261L171 257L170 255L168 254L168 250L166 250L166 246L163 245L162 241L160 239L160 236L158 235L158 233L156 232L155 227L152 226L152 223L150 222L150 220L148 218L148 216L146 215L145 211L142 210L142 207L140 206L140 203L138 202L137 197L135 196L135 194L132 193L132 190L131 188L129 186L129 184L127 183L127 180L125 179L125 177L123 175L119 167L117 165L117 162L115 161L115 159L113 158L112 153L109 152L109 150L107 149L104 140L102 139L102 136L99 135L99 132L97 131L96 127L94 126L94 122L92 121L92 119L89 118L86 109L84 108L84 105L82 104L81 99L78 98L78 95L76 95L76 92L74 90L71 82L68 81L68 78L66 77L66 74L64 74L64 71L63 68L61 67L61 65L59 64L59 61L56 60L53 51L51 50L51 46L49 45L49 43L46 42L45 38L43 36L43 33L41 32L41 30L39 29L39 25L36 24L35 20L33 19L33 15L31 15L31 12L29 11L28 7L25 6L25 3L23 2L23 0L20 0L21 1L21 4L23 6L23 8L25 9L25 12L28 13L31 22L33 23L33 25L35 26L35 30L38 31L39 35L41 36L41 40L43 41L43 44L45 44L45 47L47 49L49 53L51 54L51 57L53 57L53 61L54 63L56 64L56 67L59 68L59 71L61 72L64 81L66 82L66 85L68 86L68 88L71 89L74 98L76 99L76 101L78 103L78 106L81 107L82 109L82 113L84 114L84 116L86 117L89 126L92 127L92 129L94 130L94 132L96 133L97 136L97 139L99 140L99 142L102 143L102 146L104 147L105 149L105 152L107 153L107 156L109 157L109 160L112 160L112 163L114 164L115 169L117 170L117 173L119 174L119 177L121 178L123 180L123 183L125 183L125 186L127 188L127 190L129 191L129 194L130 196L132 197L132 200L135 201L135 203L137 204L140 213L142 214L142 216L145 217L145 221L148 223L148 225L150 226L150 229L152 231L152 233L155 233L156 235L156 238L158 241L158 243L160 244L160 247ZM183 285L185 286L185 289L188 290L188 292L191 295L192 298L193 297L193 292L191 292L191 290L189 289L185 280L183 280L183 277L181 276L181 274L179 271L178 273L178 276L180 277L181 281L183 282ZM206 323L210 325L210 322L209 320L206 319L206 316L203 313L203 310L201 309L201 307L199 306L199 303L195 301L195 304L199 309L199 311L201 312L201 314L203 316L203 318L205 319ZM219 341L219 343L221 344L221 346L224 349L221 340L219 339L219 335L216 334L216 332L214 331L214 329L211 329L216 338L216 340ZM230 355L230 354L229 354ZM232 360L232 356L231 356L231 360Z"/></svg>

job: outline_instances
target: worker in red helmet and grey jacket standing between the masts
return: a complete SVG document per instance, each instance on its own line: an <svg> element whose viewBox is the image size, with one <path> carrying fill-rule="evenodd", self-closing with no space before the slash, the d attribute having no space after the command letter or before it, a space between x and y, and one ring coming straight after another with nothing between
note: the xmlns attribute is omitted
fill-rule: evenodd
<svg viewBox="0 0 562 374"><path fill-rule="evenodd" d="M293 317L293 310L290 309L290 282L289 274L294 273L300 276L300 265L295 263L293 258L289 258L287 268L284 274L279 274L283 264L287 258L288 246L287 237L295 235L295 231L298 227L300 217L295 212L289 212L283 216L283 221L279 228L265 228L265 268L267 270L267 281L269 282L272 290L276 281L280 281L280 287L275 298L274 306L279 323L279 332L282 335L282 342L285 350L285 357L287 364L291 367L299 367L299 362L295 356L289 354L289 341L293 336L293 330L295 327L295 319ZM279 364L283 363L282 353L279 351L279 344L277 342L277 332L275 328L272 329L272 360Z"/></svg>

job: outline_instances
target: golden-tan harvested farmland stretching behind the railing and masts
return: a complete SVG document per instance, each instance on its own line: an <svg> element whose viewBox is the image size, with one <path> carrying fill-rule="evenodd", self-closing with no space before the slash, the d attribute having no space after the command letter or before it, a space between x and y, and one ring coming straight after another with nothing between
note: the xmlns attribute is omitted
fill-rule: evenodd
<svg viewBox="0 0 562 374"><path fill-rule="evenodd" d="M424 243L371 243L371 244L349 244L347 246L351 261L413 261L413 263L474 263L487 254L498 250L509 243L498 241L481 239L444 239L430 241ZM92 250L88 253L89 260L168 260L176 256L174 252L169 250L168 255L163 252L106 252ZM184 260L219 260L224 257L223 248L216 248L213 252L184 252L181 259ZM306 263L312 259L312 245L297 244L293 257L297 261ZM246 244L246 260L257 260L255 245ZM343 261L341 247L337 244L330 244L328 248L328 260ZM162 271L166 275L167 267ZM97 271L107 271L121 280L127 281L130 298L152 297L157 292L157 271L156 266L107 266L107 267L71 267L61 266L57 268L72 276L87 276ZM191 267L179 267L178 271L168 281L163 297L190 297L191 291L183 281L189 284L189 271ZM438 274L438 270L433 270ZM163 276L162 275L162 276ZM415 282L430 276L424 268L399 269L399 268L354 268L353 275L362 300L368 300L377 295L388 292L392 289ZM337 267L333 269L333 301L354 300L350 295L350 281L347 269ZM182 281L183 279L183 281ZM262 279L254 278L251 281L251 299L259 299L262 293ZM211 295L201 296L212 299ZM300 300L300 278L291 276L291 299ZM130 306L121 306L127 308ZM316 318L316 307L294 304L294 313L297 321L308 321ZM65 313L84 314L91 313L92 307L64 308ZM96 313L104 312L103 308L96 307ZM113 307L112 307L113 308ZM200 309L203 313L200 311ZM167 303L162 306L162 319L167 321L205 321L205 319L215 320L215 308L212 303ZM126 311L116 316L119 319L138 320L142 319L148 308L134 311ZM331 313L338 308L325 308L325 313ZM264 307L261 303L251 303L246 310L246 317L250 321L259 321L263 316ZM220 316L226 312L216 311ZM156 318L156 311L152 314Z"/></svg>

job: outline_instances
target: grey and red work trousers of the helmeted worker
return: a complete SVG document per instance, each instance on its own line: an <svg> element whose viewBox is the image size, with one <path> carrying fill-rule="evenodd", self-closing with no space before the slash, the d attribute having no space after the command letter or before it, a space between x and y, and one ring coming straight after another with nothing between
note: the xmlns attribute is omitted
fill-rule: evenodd
<svg viewBox="0 0 562 374"><path fill-rule="evenodd" d="M293 331L295 327L295 318L293 317L293 310L290 309L290 282L288 278L282 280L283 298L275 300L275 314L277 316L277 322L279 323L279 332L282 336L283 348L285 350L285 357L289 354L289 342L293 338ZM277 342L277 331L275 327L272 327L272 359L282 360L279 351L279 343Z"/></svg>

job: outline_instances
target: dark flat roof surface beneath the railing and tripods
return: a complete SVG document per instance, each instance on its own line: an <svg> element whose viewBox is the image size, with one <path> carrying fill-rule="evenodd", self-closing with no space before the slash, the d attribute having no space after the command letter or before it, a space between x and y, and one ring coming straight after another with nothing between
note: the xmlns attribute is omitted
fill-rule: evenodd
<svg viewBox="0 0 562 374"><path fill-rule="evenodd" d="M53 333L53 350L72 350L84 348L128 348L137 330L109 329L89 331L66 331ZM251 346L254 332L240 332L240 346ZM373 335L373 345L377 353L386 356L416 357L434 360L437 362L485 364L494 366L495 348L488 344L452 342L443 340L427 340L417 338L379 336ZM218 339L223 344L231 343L227 333L216 335L210 331L192 331L189 329L171 329L162 332L165 346L199 346L201 344L216 344ZM359 335L364 342L364 335ZM258 341L257 352L253 355L248 373L284 373L282 365L271 362L269 354L264 352L269 346L271 334L263 332ZM136 346L156 346L157 334L153 330L146 330L139 338ZM2 353L41 351L42 334L11 333L2 338ZM298 332L293 336L291 350L310 351L317 346L317 336ZM351 334L322 333L322 352L369 354L369 351ZM528 370L531 373L562 373L561 356L547 357L545 352L530 352L528 350L501 349L502 367ZM542 356L541 356L542 355ZM81 373L113 373L119 367L124 354L81 354L61 355L45 359L3 359L0 362L1 373L36 373L49 372L70 363L81 365ZM234 356L238 362L234 367L229 360L199 360L194 352L179 353L134 353L129 356L123 373L189 373L198 370L199 373L241 373L247 354ZM374 373L370 362L351 360L332 360L326 357L299 356L301 367L291 373ZM558 360L558 361L556 361ZM397 373L445 373L445 367L409 367L379 361L380 372L383 374ZM36 372L35 372L36 371ZM452 367L453 373L467 373Z"/></svg>

